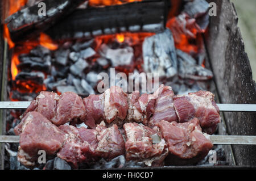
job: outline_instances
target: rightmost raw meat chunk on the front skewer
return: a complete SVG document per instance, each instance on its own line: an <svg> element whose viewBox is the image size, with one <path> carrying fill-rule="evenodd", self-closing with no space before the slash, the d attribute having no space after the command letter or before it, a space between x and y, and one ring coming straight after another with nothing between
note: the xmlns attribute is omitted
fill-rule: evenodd
<svg viewBox="0 0 256 181"><path fill-rule="evenodd" d="M167 142L172 159L177 157L198 161L204 158L213 146L207 134L202 133L199 120L196 118L185 123L168 123L162 120L156 125Z"/></svg>

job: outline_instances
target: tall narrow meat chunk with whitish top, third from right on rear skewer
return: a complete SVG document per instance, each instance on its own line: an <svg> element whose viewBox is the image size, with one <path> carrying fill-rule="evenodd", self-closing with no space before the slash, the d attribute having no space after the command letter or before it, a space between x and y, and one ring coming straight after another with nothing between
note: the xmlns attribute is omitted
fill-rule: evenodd
<svg viewBox="0 0 256 181"><path fill-rule="evenodd" d="M169 86L160 85L159 89L154 92L155 112L150 118L148 125L154 127L159 121L165 120L168 122L177 121L177 116L174 109L174 91Z"/></svg>

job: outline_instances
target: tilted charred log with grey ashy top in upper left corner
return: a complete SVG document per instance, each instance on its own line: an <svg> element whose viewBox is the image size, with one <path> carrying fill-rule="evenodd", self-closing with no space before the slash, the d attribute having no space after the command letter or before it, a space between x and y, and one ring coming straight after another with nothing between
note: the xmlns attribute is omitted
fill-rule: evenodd
<svg viewBox="0 0 256 181"><path fill-rule="evenodd" d="M39 15L41 7L34 5L15 12L5 23L14 42L31 38L47 30L59 19L64 18L86 0L44 0L46 13Z"/></svg>

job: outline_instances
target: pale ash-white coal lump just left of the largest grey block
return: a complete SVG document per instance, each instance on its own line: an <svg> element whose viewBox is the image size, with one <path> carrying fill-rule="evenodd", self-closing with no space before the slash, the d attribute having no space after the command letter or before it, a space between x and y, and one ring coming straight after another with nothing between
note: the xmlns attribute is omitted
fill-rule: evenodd
<svg viewBox="0 0 256 181"><path fill-rule="evenodd" d="M106 58L110 59L112 62L112 66L122 66L122 65L130 65L131 61L133 61L133 48L118 48L111 49L109 48L106 51Z"/></svg>

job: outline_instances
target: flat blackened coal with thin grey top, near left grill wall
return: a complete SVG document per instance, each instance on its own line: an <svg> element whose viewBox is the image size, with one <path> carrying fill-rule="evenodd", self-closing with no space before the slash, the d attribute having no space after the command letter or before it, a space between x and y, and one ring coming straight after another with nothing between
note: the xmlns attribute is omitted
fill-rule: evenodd
<svg viewBox="0 0 256 181"><path fill-rule="evenodd" d="M43 84L44 81L44 73L42 72L35 72L35 71L31 71L31 72L24 72L24 71L20 71L16 77L15 77L15 81L27 81L30 80L32 82L38 83L40 85Z"/></svg>

